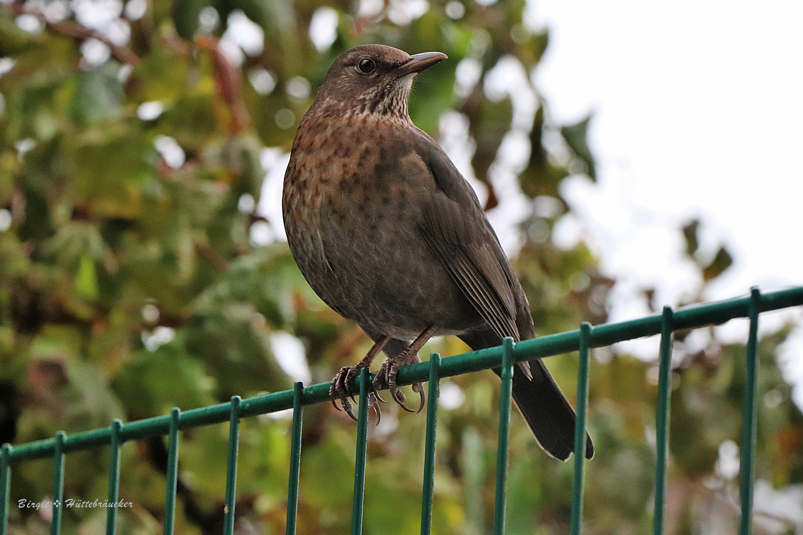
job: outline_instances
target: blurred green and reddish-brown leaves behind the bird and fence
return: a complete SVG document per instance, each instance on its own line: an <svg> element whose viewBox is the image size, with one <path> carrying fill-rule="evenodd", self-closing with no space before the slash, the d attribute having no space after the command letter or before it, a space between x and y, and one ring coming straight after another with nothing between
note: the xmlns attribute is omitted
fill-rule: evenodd
<svg viewBox="0 0 803 535"><path fill-rule="evenodd" d="M0 442L291 387L271 351L283 331L304 342L314 382L364 354L365 334L312 293L275 239L280 229L255 210L270 201L263 192L278 195L263 179L312 102L304 81L314 90L332 59L359 43L449 55L422 75L410 112L436 137L444 112L463 114L488 209L499 202L492 179L506 136L529 141L529 156L514 170L532 206L515 265L536 330L605 321L613 281L585 244L560 249L551 239L569 211L561 181L595 177L587 143L593 119L552 124L538 98L522 128L510 95L491 98L484 84L500 59L512 61L537 97L528 76L548 34L530 29L524 0L391 0L367 14L376 3L0 6ZM336 33L319 51L308 30L327 13L335 14ZM236 39L232 51L236 29L224 34L243 14L264 34L263 49L249 55ZM242 64L230 59L238 55ZM458 76L459 66L476 75ZM257 229L269 239L257 239ZM724 248L701 255L697 232L696 222L683 229L700 273L689 302L732 262ZM716 467L721 445L740 437L744 347L718 342L711 329L698 332L702 344L699 335L677 337L666 533L695 530L710 520L708 505L732 498L735 488L733 474ZM777 486L803 480L803 422L775 362L788 333L760 342L757 473ZM446 338L422 355L465 350ZM576 357L548 364L573 398ZM593 360L589 428L597 457L588 468L588 533L649 531L656 367L611 348ZM444 381L463 403L438 417L434 533L489 530L498 384L490 372ZM425 419L399 415L393 404L384 412L370 431L365 532L417 533ZM283 415L243 420L237 533L283 532L288 428ZM328 403L304 411L299 533L349 531L354 431ZM219 533L227 434L226 426L182 433L177 533ZM510 459L507 533L565 533L570 464L545 456L519 416ZM120 533L161 531L165 460L161 439L124 444L120 496L134 506L120 510ZM107 463L102 449L67 456L65 496L102 501ZM47 496L51 466L15 466L12 504ZM47 513L13 505L10 512L10 533L47 531ZM102 509L65 509L63 529L103 533L104 518Z"/></svg>

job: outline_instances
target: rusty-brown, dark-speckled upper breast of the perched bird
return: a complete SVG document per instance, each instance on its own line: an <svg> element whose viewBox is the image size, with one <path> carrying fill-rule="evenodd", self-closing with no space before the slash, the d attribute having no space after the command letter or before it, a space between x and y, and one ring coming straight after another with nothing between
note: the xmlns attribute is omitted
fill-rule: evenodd
<svg viewBox="0 0 803 535"><path fill-rule="evenodd" d="M286 225L317 226L325 213L357 233L414 217L411 199L428 189L428 172L405 131L365 117L302 124L284 180Z"/></svg>

